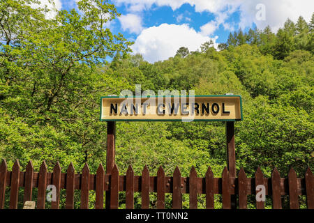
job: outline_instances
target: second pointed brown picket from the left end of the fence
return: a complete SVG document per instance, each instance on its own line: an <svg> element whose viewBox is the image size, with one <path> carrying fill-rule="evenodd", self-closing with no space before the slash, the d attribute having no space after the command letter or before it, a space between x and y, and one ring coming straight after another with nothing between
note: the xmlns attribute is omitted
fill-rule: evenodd
<svg viewBox="0 0 314 223"><path fill-rule="evenodd" d="M20 162L15 160L11 174L11 193L10 193L10 209L17 209L18 195L20 186Z"/></svg>

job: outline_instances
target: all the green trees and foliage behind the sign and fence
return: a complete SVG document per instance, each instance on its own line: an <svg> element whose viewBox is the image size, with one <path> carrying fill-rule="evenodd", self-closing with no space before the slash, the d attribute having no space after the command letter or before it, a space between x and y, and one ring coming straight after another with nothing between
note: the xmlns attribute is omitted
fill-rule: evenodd
<svg viewBox="0 0 314 223"><path fill-rule="evenodd" d="M310 22L287 20L277 33L269 27L230 33L219 51L211 42L200 52L183 46L151 64L128 54L131 43L105 28L119 15L113 5L83 0L80 12L61 10L47 20L47 9L31 2L0 3L0 158L9 169L15 159L23 168L32 160L36 170L45 160L50 170L59 161L63 171L73 162L78 172L87 162L95 173L105 164L100 96L135 91L135 84L156 93L242 95L237 170L244 167L250 177L261 167L270 176L277 167L283 177L290 167L299 176L313 169L314 15ZM114 56L111 63L107 56ZM210 165L221 176L225 123L117 123L116 147L121 173L132 164L135 174L147 165L156 175L161 165L167 175L179 166L188 176L193 165L204 176Z"/></svg>

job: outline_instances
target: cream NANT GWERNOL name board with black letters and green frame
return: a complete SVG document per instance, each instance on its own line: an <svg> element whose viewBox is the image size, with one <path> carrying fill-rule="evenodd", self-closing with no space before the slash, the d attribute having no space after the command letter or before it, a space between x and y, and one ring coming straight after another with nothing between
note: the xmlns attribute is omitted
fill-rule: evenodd
<svg viewBox="0 0 314 223"><path fill-rule="evenodd" d="M240 95L125 97L100 100L100 121L241 121Z"/></svg>

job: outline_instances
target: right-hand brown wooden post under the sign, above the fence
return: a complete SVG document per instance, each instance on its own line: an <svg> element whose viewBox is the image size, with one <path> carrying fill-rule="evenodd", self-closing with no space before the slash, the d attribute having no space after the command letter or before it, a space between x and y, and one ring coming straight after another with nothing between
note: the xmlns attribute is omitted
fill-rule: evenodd
<svg viewBox="0 0 314 223"><path fill-rule="evenodd" d="M227 137L227 166L230 177L236 176L236 161L235 161L235 144L234 144L234 122L226 122L226 137Z"/></svg>

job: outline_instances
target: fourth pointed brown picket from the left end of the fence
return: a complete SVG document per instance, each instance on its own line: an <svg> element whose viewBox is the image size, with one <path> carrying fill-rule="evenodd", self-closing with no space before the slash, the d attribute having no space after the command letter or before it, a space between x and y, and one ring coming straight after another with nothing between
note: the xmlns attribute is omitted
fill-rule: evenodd
<svg viewBox="0 0 314 223"><path fill-rule="evenodd" d="M37 198L37 209L45 209L46 199L46 188L47 188L47 165L45 161L42 162L39 169L38 176L38 198Z"/></svg>

